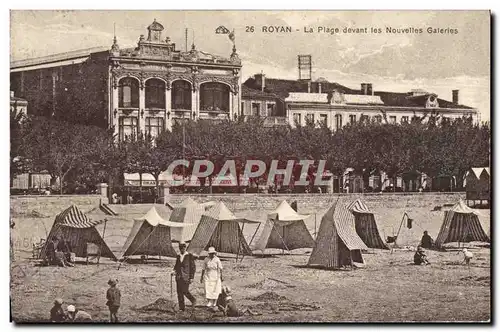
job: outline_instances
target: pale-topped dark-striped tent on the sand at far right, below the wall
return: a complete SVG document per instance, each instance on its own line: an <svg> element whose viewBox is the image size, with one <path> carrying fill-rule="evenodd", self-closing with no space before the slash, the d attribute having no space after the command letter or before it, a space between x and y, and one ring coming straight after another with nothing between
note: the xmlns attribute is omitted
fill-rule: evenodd
<svg viewBox="0 0 500 332"><path fill-rule="evenodd" d="M490 242L479 221L478 213L460 200L449 211L444 212L444 221L435 245L441 248L449 242Z"/></svg>

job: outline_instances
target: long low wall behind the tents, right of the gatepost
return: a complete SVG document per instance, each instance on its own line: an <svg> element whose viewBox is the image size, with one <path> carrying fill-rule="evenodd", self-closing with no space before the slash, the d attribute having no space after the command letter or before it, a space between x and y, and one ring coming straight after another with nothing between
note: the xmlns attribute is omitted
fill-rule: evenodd
<svg viewBox="0 0 500 332"><path fill-rule="evenodd" d="M286 200L297 201L298 210L313 213L325 209L339 199L340 202L362 198L370 208L429 207L456 203L465 199L465 193L374 193L374 194L244 194L244 195L169 195L167 202L179 204L187 197L197 202L223 201L234 212L248 210L272 210Z"/></svg>

